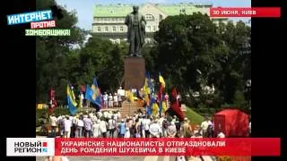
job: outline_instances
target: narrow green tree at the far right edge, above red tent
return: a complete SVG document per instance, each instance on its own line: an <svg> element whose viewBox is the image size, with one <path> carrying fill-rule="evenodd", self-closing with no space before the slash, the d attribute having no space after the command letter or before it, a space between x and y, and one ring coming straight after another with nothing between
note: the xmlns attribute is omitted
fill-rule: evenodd
<svg viewBox="0 0 287 161"><path fill-rule="evenodd" d="M245 88L246 80L251 78L251 29L244 22L236 25L229 22L220 24L221 38L225 46L224 55L218 57L222 71L213 75L219 89L223 90L225 102L230 104L237 90Z"/></svg>

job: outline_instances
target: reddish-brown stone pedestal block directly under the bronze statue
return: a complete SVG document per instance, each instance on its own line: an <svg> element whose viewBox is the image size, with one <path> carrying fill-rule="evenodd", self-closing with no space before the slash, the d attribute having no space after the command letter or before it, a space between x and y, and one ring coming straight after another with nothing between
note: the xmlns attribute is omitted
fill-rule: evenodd
<svg viewBox="0 0 287 161"><path fill-rule="evenodd" d="M128 90L141 89L145 79L145 62L143 57L126 57L125 58L125 88Z"/></svg>

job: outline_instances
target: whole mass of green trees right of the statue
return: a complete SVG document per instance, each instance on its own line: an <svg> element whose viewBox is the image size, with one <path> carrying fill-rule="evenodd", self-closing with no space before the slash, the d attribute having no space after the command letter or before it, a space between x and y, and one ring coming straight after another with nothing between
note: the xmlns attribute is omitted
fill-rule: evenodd
<svg viewBox="0 0 287 161"><path fill-rule="evenodd" d="M195 100L194 91L214 84L215 95L201 92L201 96L216 100L216 106L232 104L235 92L242 91L250 79L250 36L250 27L242 21L215 25L202 13L169 16L155 34L158 55L149 64L168 75L188 99Z"/></svg>

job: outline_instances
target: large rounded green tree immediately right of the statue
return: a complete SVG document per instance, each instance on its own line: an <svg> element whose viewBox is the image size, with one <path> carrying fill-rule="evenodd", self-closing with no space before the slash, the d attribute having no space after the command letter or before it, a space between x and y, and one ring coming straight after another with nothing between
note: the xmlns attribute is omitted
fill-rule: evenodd
<svg viewBox="0 0 287 161"><path fill-rule="evenodd" d="M213 57L221 42L207 15L170 16L161 21L155 39L159 43L158 69L169 73L183 93L199 90L200 78L208 78L211 69L219 66Z"/></svg>

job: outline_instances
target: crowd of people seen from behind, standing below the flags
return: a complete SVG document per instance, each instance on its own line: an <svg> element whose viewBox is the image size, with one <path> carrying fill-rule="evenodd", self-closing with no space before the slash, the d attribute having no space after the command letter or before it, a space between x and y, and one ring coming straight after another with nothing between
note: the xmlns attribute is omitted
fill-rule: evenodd
<svg viewBox="0 0 287 161"><path fill-rule="evenodd" d="M148 116L135 112L122 117L119 112L97 112L50 116L50 137L62 138L175 138L192 136L213 137L213 123L206 118L200 126L192 128L189 120L179 122L176 115ZM57 133L58 129L58 133ZM218 133L218 137L224 134Z"/></svg>

